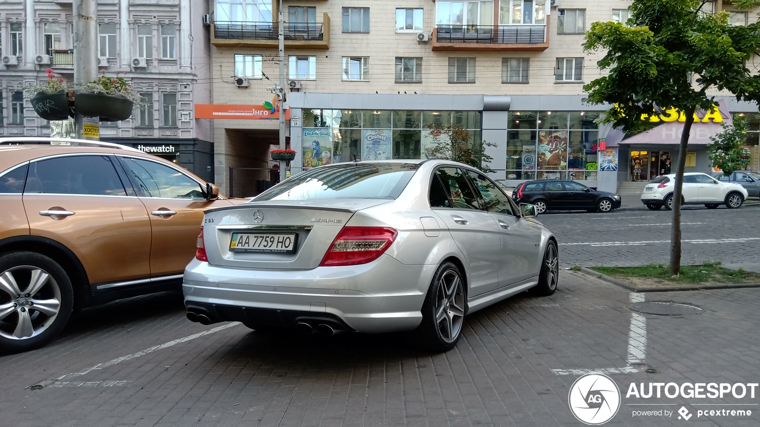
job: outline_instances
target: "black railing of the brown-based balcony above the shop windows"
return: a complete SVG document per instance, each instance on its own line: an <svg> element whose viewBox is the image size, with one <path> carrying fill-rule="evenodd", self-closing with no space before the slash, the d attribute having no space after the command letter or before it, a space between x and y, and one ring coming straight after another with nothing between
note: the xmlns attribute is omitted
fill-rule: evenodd
<svg viewBox="0 0 760 427"><path fill-rule="evenodd" d="M439 25L435 41L537 44L546 42L546 25Z"/></svg>

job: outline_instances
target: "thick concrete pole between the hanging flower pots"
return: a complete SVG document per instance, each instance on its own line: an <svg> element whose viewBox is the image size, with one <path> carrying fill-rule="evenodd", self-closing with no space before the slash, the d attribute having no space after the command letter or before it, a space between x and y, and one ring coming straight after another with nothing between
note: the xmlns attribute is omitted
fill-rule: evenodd
<svg viewBox="0 0 760 427"><path fill-rule="evenodd" d="M97 0L74 0L74 89L97 79ZM122 17L123 19L123 17ZM123 53L122 53L123 55ZM76 95L74 95L76 99ZM84 137L85 119L78 110L74 121L77 137L84 140L99 140L96 137ZM94 124L98 124L94 119Z"/></svg>

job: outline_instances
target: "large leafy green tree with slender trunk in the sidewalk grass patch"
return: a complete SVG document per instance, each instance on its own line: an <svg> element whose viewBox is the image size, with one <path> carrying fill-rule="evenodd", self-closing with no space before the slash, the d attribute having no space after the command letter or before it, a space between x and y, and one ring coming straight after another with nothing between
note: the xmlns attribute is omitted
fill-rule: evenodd
<svg viewBox="0 0 760 427"><path fill-rule="evenodd" d="M586 52L606 51L597 62L609 74L584 86L586 102L614 105L603 123L635 133L654 127L642 120L655 111L677 108L684 115L676 187L673 191L673 226L670 273L681 264L681 190L689 132L698 110L713 108L710 89L728 90L739 100L758 101L760 77L745 61L760 48L760 24L728 25L728 12L707 14L707 0L635 0L626 25L595 22L586 32ZM736 0L747 10L760 0Z"/></svg>

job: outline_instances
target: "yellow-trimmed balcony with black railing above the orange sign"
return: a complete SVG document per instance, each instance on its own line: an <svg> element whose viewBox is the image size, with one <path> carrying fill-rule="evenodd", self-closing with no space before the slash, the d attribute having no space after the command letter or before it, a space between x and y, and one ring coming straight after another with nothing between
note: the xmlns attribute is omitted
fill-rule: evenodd
<svg viewBox="0 0 760 427"><path fill-rule="evenodd" d="M211 24L211 44L220 48L277 49L276 22L231 22ZM330 16L315 24L284 24L285 49L330 49Z"/></svg>

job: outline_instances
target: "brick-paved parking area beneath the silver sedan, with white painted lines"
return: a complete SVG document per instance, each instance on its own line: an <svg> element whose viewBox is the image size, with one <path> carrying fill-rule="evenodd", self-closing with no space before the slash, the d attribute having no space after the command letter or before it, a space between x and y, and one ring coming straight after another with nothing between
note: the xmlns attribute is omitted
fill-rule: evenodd
<svg viewBox="0 0 760 427"><path fill-rule="evenodd" d="M454 350L428 354L401 334L270 336L242 325L182 341L225 324L186 321L179 294L141 297L85 312L42 350L0 357L0 425L581 425L567 404L578 374L553 369L627 369L611 375L624 397L631 381L760 382L760 289L646 295L705 312L646 316L646 365L633 367L630 298L562 272L552 297L521 294L467 316ZM631 401L607 425L686 425L633 418ZM758 412L690 422L758 425Z"/></svg>

